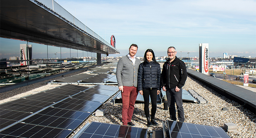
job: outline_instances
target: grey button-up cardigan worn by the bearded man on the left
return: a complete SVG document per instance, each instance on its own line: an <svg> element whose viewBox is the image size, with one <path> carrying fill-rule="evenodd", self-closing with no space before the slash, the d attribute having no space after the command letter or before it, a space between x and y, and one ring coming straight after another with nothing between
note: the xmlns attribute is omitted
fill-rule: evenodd
<svg viewBox="0 0 256 138"><path fill-rule="evenodd" d="M116 71L118 87L120 86L137 87L139 65L140 65L139 59L136 58L135 65L133 65L128 55L119 59L117 63L117 71Z"/></svg>

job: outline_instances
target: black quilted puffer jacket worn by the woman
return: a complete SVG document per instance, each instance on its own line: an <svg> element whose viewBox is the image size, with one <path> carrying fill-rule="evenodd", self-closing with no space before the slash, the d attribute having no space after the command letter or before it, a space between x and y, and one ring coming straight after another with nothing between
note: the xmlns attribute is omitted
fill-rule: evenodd
<svg viewBox="0 0 256 138"><path fill-rule="evenodd" d="M147 89L147 88L157 88L160 90L160 77L161 77L161 68L158 63L154 61L145 61L140 63L138 70L138 90Z"/></svg>

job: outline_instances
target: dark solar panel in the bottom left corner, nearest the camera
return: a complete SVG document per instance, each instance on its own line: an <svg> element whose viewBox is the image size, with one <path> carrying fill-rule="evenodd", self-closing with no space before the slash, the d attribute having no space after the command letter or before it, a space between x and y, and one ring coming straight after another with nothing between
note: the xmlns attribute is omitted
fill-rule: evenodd
<svg viewBox="0 0 256 138"><path fill-rule="evenodd" d="M67 138L73 130L17 123L0 132L1 138Z"/></svg>

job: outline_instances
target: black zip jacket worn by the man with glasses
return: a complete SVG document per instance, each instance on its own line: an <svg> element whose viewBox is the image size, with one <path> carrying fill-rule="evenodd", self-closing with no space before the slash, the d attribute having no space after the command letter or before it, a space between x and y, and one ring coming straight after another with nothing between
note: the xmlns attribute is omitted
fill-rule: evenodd
<svg viewBox="0 0 256 138"><path fill-rule="evenodd" d="M170 62L170 59L163 65L161 73L161 87L180 89L185 85L187 79L187 69L185 63L175 56L175 59Z"/></svg>

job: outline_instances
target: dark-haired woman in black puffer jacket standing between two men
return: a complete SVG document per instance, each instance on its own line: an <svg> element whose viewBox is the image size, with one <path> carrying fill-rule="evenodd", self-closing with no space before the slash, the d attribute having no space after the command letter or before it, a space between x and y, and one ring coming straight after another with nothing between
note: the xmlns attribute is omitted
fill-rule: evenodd
<svg viewBox="0 0 256 138"><path fill-rule="evenodd" d="M138 90L144 98L144 111L147 118L147 126L152 127L158 126L155 121L156 114L156 99L160 93L160 76L161 68L159 63L156 61L154 51L147 49L144 55L144 62L140 63L138 70ZM151 121L149 116L149 95L151 99Z"/></svg>

